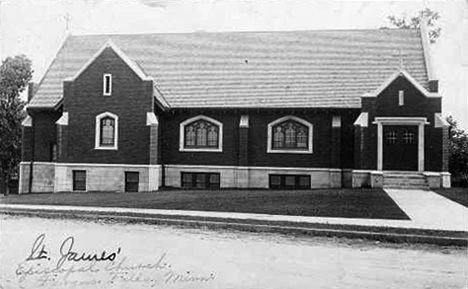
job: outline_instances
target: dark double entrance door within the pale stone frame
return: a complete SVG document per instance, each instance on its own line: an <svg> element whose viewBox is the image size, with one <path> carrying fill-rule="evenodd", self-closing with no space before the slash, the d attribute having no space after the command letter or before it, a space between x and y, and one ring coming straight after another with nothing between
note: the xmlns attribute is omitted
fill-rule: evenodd
<svg viewBox="0 0 468 289"><path fill-rule="evenodd" d="M418 127L383 126L383 169L418 170Z"/></svg>

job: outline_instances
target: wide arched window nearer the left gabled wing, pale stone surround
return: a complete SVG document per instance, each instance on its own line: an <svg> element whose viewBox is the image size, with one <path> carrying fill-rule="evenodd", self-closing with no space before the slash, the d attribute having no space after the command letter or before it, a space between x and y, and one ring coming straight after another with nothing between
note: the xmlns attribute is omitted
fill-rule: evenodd
<svg viewBox="0 0 468 289"><path fill-rule="evenodd" d="M222 124L197 116L180 124L180 151L222 151Z"/></svg>

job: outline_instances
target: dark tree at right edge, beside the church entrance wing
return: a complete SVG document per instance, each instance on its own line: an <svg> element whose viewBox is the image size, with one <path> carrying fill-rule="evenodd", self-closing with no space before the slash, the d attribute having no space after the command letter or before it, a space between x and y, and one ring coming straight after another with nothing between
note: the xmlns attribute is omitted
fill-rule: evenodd
<svg viewBox="0 0 468 289"><path fill-rule="evenodd" d="M466 187L468 184L468 133L458 128L457 121L448 116L449 123L449 171L454 185Z"/></svg>

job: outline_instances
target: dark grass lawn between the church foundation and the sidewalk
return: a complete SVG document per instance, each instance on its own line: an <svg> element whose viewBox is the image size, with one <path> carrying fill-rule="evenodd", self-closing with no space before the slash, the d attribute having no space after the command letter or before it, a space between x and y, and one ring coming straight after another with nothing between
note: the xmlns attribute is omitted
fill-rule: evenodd
<svg viewBox="0 0 468 289"><path fill-rule="evenodd" d="M342 218L409 219L381 189L161 190L155 193L9 195L3 204L201 210Z"/></svg>

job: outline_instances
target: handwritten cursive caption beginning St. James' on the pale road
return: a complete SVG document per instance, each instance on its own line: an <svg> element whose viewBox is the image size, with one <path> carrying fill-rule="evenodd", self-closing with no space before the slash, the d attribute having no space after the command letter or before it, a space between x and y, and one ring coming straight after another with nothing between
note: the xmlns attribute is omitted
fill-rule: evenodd
<svg viewBox="0 0 468 289"><path fill-rule="evenodd" d="M27 258L15 270L21 288L102 288L124 283L159 287L161 284L202 284L215 279L213 273L175 269L164 251L148 256L146 262L132 262L122 254L120 247L117 250L77 250L72 236L65 238L58 250L49 249L45 234L40 234Z"/></svg>

